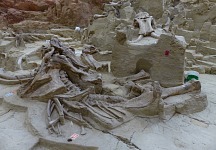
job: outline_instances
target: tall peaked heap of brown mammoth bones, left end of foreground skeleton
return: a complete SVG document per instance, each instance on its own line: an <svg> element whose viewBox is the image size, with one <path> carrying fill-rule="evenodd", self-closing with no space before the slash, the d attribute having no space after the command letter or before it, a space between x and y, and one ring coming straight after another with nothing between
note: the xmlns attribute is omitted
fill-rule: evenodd
<svg viewBox="0 0 216 150"><path fill-rule="evenodd" d="M53 93L74 96L89 86L94 86L96 93L101 90L100 74L89 70L74 50L62 45L57 38L50 40L50 50L45 52L34 78L18 90L21 97L47 99L53 98Z"/></svg>

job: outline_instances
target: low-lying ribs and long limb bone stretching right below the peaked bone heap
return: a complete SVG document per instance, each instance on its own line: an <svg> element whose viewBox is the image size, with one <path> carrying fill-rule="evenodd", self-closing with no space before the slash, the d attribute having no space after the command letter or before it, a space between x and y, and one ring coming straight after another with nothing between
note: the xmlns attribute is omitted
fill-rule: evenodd
<svg viewBox="0 0 216 150"><path fill-rule="evenodd" d="M149 90L131 99L121 96L88 94L79 100L59 98L61 106L58 107L63 108L66 119L81 126L81 134L86 134L85 128L93 127L106 131L116 128L136 116L146 117L148 115L143 114L145 111L157 115L162 97L166 98L194 90L199 90L199 81L189 82L173 88L161 88L159 82L154 81ZM47 106L49 107L49 105ZM59 123L61 123L60 116L61 113L59 113L58 117ZM55 120L51 122L55 122ZM55 132L55 129L53 130Z"/></svg>

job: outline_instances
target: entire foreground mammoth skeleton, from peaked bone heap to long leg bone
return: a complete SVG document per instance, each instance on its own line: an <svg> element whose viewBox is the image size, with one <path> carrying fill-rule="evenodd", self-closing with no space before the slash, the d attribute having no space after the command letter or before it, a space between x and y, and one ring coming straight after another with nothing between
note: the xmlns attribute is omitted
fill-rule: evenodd
<svg viewBox="0 0 216 150"><path fill-rule="evenodd" d="M136 116L157 116L159 106L163 104L162 98L199 89L198 81L180 87L162 88L159 82L149 78L150 75L142 70L115 80L119 87L127 89L130 85L128 91L135 93L131 97L127 94L103 95L101 74L85 65L73 49L53 38L41 65L17 94L48 102L47 128L51 133L61 134L59 126L69 120L78 124L80 133L84 135L86 128L106 131ZM141 80L148 80L148 83Z"/></svg>

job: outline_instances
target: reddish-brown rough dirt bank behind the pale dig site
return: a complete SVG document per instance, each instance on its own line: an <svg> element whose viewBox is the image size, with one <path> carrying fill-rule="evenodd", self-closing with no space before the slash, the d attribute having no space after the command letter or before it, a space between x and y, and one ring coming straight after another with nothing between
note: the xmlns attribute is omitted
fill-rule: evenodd
<svg viewBox="0 0 216 150"><path fill-rule="evenodd" d="M42 20L85 26L109 0L4 0L0 1L0 28L23 20ZM40 16L40 17L37 17Z"/></svg>

